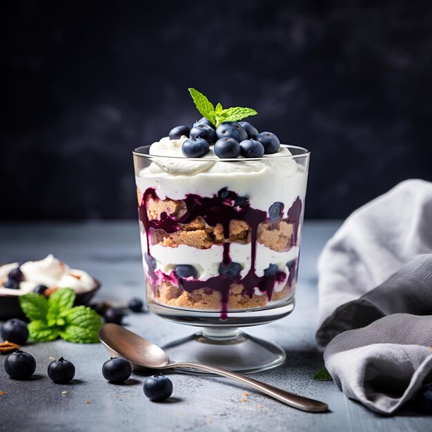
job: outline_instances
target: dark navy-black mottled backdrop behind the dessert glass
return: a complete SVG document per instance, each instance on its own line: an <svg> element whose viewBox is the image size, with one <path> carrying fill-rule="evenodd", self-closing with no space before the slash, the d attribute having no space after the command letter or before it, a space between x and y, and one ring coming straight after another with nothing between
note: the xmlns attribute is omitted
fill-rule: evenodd
<svg viewBox="0 0 432 432"><path fill-rule="evenodd" d="M136 217L193 86L312 150L306 217L432 179L429 1L2 2L2 219Z"/></svg>

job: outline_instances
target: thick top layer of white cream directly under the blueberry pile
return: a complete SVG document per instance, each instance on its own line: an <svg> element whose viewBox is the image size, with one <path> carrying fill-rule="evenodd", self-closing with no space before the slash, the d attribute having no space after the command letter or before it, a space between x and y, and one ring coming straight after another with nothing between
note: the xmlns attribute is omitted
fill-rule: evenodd
<svg viewBox="0 0 432 432"><path fill-rule="evenodd" d="M240 156L227 162L220 161L210 146L203 157L188 159L181 153L181 144L186 139L164 137L150 146L151 164L136 177L141 193L151 187L160 199L177 200L188 193L212 197L227 187L237 195L248 196L251 207L262 210L268 210L275 201L283 202L285 208L297 197L304 202L308 176L290 157L288 148L281 146L278 153L264 155L262 159Z"/></svg>

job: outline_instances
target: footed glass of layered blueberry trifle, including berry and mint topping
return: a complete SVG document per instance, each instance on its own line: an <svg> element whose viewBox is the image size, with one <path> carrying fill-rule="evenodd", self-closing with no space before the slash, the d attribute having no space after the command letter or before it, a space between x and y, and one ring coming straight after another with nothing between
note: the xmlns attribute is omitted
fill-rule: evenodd
<svg viewBox="0 0 432 432"><path fill-rule="evenodd" d="M282 348L239 327L293 311L309 152L190 92L206 117L133 152L148 307L202 327L164 347L171 360L270 369Z"/></svg>

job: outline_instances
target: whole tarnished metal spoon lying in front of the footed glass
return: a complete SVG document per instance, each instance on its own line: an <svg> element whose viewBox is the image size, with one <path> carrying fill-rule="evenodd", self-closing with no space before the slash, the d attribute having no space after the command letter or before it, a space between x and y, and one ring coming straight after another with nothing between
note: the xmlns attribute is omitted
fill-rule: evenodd
<svg viewBox="0 0 432 432"><path fill-rule="evenodd" d="M150 369L199 369L200 371L215 373L242 382L243 384L248 384L254 389L286 405L293 406L293 408L301 409L302 411L319 413L328 410L328 405L324 404L324 402L295 395L294 393L288 393L287 391L277 389L277 387L253 380L253 378L240 375L239 373L226 371L225 369L215 366L207 366L205 364L185 362L170 363L168 355L166 355L162 348L159 348L159 346L117 324L104 324L104 326L99 329L99 339L115 357L124 357L132 362L132 365L135 364L135 366L138 365Z"/></svg>

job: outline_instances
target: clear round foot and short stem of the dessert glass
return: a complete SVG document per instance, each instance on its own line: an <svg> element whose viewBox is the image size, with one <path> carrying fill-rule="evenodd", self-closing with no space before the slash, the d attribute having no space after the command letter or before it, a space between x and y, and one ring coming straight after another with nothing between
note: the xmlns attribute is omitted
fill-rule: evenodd
<svg viewBox="0 0 432 432"><path fill-rule="evenodd" d="M209 364L239 373L273 369L286 359L286 353L280 346L247 335L238 328L205 327L202 331L170 342L163 348L171 362ZM203 373L191 369L181 370Z"/></svg>

